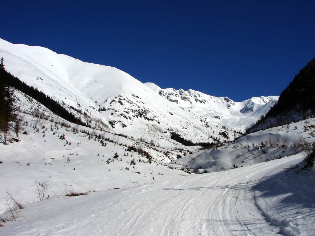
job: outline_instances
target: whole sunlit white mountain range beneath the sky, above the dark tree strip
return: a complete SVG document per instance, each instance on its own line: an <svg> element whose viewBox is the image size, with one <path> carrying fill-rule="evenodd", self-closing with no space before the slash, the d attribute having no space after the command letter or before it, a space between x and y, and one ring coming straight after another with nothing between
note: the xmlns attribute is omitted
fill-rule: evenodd
<svg viewBox="0 0 315 236"><path fill-rule="evenodd" d="M235 131L255 122L278 98L235 103L194 90L161 89L114 67L2 39L0 57L8 72L37 87L89 126L169 147L176 145L171 132L192 142L231 140L238 136Z"/></svg>

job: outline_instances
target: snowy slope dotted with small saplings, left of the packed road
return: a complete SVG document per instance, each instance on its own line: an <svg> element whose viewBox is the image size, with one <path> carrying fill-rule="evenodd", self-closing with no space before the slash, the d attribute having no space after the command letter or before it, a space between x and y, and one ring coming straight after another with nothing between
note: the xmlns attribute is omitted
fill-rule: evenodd
<svg viewBox="0 0 315 236"><path fill-rule="evenodd" d="M174 178L184 172L170 169L166 163L177 155L199 149L175 141L173 150L163 149L134 138L78 126L20 91L15 91L14 97L19 104L16 113L23 121L19 138L11 131L9 145L0 145L0 213L7 209L7 190L18 191L23 204L37 201L36 182L48 183L46 198L66 190L99 191Z"/></svg>

